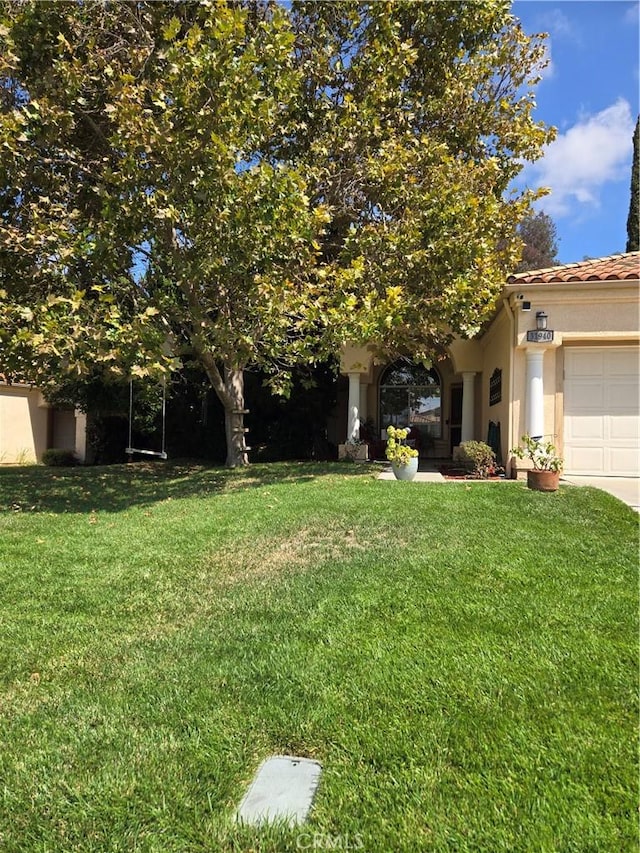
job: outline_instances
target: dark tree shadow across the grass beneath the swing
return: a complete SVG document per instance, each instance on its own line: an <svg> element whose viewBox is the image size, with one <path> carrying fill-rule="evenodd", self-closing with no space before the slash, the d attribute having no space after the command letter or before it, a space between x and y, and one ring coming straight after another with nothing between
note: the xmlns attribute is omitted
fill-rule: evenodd
<svg viewBox="0 0 640 853"><path fill-rule="evenodd" d="M276 462L233 470L191 462L4 468L0 469L0 511L121 512L169 498L211 497L259 486L345 475L370 476L371 469L338 462Z"/></svg>

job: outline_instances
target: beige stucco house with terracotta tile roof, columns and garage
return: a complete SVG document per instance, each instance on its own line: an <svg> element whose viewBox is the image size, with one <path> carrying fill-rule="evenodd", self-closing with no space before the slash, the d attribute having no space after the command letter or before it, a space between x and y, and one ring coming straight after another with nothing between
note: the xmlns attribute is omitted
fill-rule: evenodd
<svg viewBox="0 0 640 853"><path fill-rule="evenodd" d="M509 448L528 433L566 473L639 476L639 279L638 252L512 275L482 333L429 368L345 347L340 440L366 422L378 445L389 424L412 427L432 458L488 441L516 476Z"/></svg>

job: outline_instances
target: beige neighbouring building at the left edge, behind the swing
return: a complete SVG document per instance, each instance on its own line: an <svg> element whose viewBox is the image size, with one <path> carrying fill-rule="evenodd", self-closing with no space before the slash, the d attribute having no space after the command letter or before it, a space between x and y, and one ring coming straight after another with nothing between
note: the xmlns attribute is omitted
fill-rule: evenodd
<svg viewBox="0 0 640 853"><path fill-rule="evenodd" d="M9 384L0 378L0 464L42 460L50 447L86 456L86 416L50 406L32 385Z"/></svg>

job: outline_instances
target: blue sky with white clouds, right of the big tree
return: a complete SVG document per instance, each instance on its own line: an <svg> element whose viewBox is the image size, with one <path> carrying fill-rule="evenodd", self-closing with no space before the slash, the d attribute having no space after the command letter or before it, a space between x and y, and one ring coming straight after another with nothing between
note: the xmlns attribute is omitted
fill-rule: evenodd
<svg viewBox="0 0 640 853"><path fill-rule="evenodd" d="M625 250L640 111L639 7L636 0L512 5L526 33L549 34L535 115L558 134L522 178L551 188L538 209L555 222L561 263Z"/></svg>

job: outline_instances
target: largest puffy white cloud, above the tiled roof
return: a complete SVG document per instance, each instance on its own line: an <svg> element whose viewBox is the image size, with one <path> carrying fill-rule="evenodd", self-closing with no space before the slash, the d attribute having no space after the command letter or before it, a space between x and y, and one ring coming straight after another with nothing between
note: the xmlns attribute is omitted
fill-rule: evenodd
<svg viewBox="0 0 640 853"><path fill-rule="evenodd" d="M525 168L531 187L551 188L544 199L550 216L597 207L604 184L629 179L635 118L624 98L595 115L584 116L548 145L537 163Z"/></svg>

